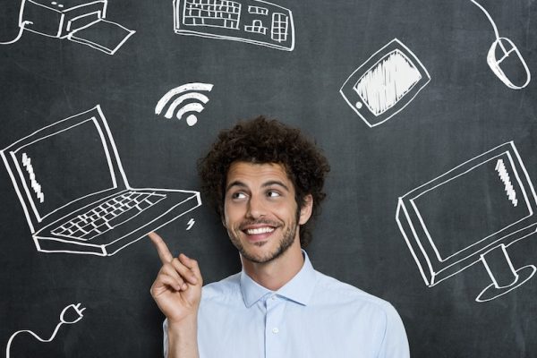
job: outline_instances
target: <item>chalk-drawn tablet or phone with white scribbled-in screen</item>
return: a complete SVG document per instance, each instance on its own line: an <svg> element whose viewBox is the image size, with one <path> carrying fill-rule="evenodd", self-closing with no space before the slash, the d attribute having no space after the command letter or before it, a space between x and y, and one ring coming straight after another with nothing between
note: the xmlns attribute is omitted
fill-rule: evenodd
<svg viewBox="0 0 537 358"><path fill-rule="evenodd" d="M406 107L429 81L429 72L420 60L394 38L360 65L339 93L373 127Z"/></svg>

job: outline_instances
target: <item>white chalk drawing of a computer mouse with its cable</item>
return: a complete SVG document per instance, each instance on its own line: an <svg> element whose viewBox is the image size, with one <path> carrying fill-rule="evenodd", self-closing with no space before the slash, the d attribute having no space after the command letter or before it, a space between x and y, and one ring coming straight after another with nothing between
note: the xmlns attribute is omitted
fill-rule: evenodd
<svg viewBox="0 0 537 358"><path fill-rule="evenodd" d="M492 25L492 29L494 29L494 36L496 39L490 46L489 53L487 54L487 64L489 64L490 70L492 70L499 80L504 82L508 88L513 90L524 89L524 87L526 87L532 80L532 75L524 58L520 55L520 51L518 51L518 48L509 38L499 37L498 28L496 27L496 23L492 20L490 13L475 0L470 1L485 13ZM516 74L524 79L522 84L515 84L509 79L509 77L514 77Z"/></svg>

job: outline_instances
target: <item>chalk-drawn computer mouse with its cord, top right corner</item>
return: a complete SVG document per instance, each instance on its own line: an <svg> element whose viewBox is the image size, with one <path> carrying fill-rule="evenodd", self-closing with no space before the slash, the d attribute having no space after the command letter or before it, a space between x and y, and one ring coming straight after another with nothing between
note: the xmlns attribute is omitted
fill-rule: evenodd
<svg viewBox="0 0 537 358"><path fill-rule="evenodd" d="M515 44L513 44L513 42L509 39L509 38L500 38L499 37L499 32L498 32L498 28L496 27L496 23L494 22L494 20L492 20L492 17L490 16L490 13L482 6L482 4L479 4L477 1L475 0L470 0L473 4L475 4L477 7L479 7L479 9L485 13L485 15L487 16L487 19L489 19L490 21L490 24L492 25L492 29L494 30L494 36L496 37L496 40L494 40L494 42L492 43L492 46L490 46L490 50L489 50L489 54L487 55L487 64L489 64L489 67L490 67L490 70L492 72L494 72L494 74L499 78L500 81L504 82L504 84L512 89L512 90L521 90L521 89L524 89L524 87L526 87L528 85L528 83L530 83L531 79L532 79L532 75L530 73L530 70L528 69L528 66L527 64L525 63L524 61L524 58L522 58L522 55L520 55L520 52L518 51L518 48L516 48ZM507 42L507 44L511 47L509 49L507 49L504 45L504 41ZM501 48L502 50L502 53L503 53L503 56L497 61L496 60L496 47L499 45L499 47ZM512 81L510 81L508 78L507 78L507 75L505 72L503 72L503 70L501 69L501 67L499 66L499 64L501 64L501 62L503 60L505 60L511 53L515 52L515 55L518 56L519 60L520 60L520 63L523 65L524 67L524 72L525 72L525 76L526 76L526 81L524 82L524 84L522 85L516 85L515 83L513 83Z"/></svg>

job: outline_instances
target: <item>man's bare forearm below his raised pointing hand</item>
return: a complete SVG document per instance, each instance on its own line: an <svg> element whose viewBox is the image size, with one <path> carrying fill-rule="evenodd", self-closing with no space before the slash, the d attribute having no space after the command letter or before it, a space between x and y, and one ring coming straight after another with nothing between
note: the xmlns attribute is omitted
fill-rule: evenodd
<svg viewBox="0 0 537 358"><path fill-rule="evenodd" d="M197 318L181 323L168 322L167 358L199 358Z"/></svg>

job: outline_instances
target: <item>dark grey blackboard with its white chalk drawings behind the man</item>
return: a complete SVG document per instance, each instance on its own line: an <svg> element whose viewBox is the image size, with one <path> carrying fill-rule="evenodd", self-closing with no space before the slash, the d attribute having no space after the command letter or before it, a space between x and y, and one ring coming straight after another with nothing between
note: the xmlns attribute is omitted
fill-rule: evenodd
<svg viewBox="0 0 537 358"><path fill-rule="evenodd" d="M314 138L331 164L307 249L315 268L393 303L413 357L537 355L537 86L524 70L537 73L534 2L236 0L226 20L211 20L218 28L200 17L221 13L200 2L62 1L2 2L0 42L16 41L0 45L0 149L55 132L66 118L100 118L98 138L112 138L108 154L121 158L133 188L191 192L191 206L158 232L213 282L240 262L195 194L196 160L238 119L278 118ZM495 43L497 59L501 46L513 50L499 65L488 63ZM209 101L185 98L168 119L172 99L157 107L170 90L172 99L188 91ZM162 354L163 317L149 294L159 260L149 240L48 252L54 245L34 240L33 209L21 205L21 195L38 202L39 194L64 205L113 181L66 180L78 173L84 183L103 168L90 149L102 151L97 122L47 137L63 144L4 151L0 349L12 357ZM65 149L81 143L88 166ZM25 178L23 192L13 173ZM485 262L499 286L514 279L507 259L524 268L517 283L530 278L476 302L492 284ZM83 317L51 342L16 334L50 338L64 309L64 320L80 318L77 309Z"/></svg>

